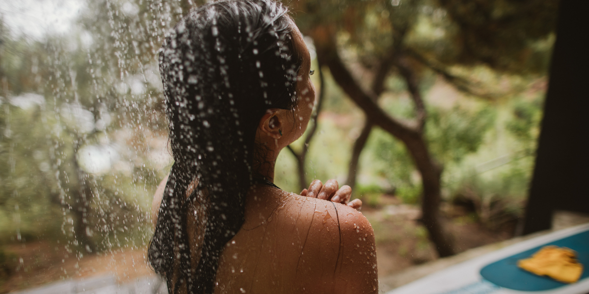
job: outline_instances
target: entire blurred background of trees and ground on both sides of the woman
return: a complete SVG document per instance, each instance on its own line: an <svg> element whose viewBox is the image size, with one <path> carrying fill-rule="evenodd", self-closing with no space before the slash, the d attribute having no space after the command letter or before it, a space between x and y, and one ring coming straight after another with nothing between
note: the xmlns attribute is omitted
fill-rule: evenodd
<svg viewBox="0 0 589 294"><path fill-rule="evenodd" d="M0 293L153 275L157 53L203 2L0 0ZM352 186L381 277L522 233L557 0L284 3L318 103L278 186Z"/></svg>

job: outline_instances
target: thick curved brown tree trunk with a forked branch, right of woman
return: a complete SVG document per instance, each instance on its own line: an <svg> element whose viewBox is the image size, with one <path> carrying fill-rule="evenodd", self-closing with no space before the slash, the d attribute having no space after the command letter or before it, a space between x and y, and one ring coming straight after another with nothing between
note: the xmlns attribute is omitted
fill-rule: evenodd
<svg viewBox="0 0 589 294"><path fill-rule="evenodd" d="M444 230L440 222L439 203L441 167L431 157L425 139L423 138L423 125L426 113L421 95L410 68L399 59L397 66L408 83L408 90L412 94L416 106L416 122L406 123L389 116L378 106L378 96L373 92L363 90L355 81L352 74L340 59L335 47L333 34L329 29L318 26L313 32L313 39L317 51L317 59L329 66L330 72L337 84L348 94L375 125L380 126L386 132L391 133L401 140L412 156L422 178L422 220L429 232L429 238L436 246L438 255L441 257L453 255L454 245L451 236ZM405 71L405 72L403 72ZM409 71L409 72L407 72Z"/></svg>

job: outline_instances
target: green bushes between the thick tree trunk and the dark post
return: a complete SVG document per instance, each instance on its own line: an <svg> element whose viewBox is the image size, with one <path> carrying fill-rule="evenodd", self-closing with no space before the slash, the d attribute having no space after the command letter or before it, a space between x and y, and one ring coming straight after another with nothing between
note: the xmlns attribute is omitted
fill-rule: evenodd
<svg viewBox="0 0 589 294"><path fill-rule="evenodd" d="M451 166L445 176L449 200L471 203L478 220L490 228L523 216L534 168L542 94L528 93L498 105L495 109L501 119L482 142L482 149L489 152L498 141L503 146L501 153L491 152L495 159L484 152L471 153L462 165Z"/></svg>

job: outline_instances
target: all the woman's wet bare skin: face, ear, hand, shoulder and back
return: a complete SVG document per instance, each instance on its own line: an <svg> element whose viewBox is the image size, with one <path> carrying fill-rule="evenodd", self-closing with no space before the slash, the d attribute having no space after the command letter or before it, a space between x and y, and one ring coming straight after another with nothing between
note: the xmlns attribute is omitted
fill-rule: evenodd
<svg viewBox="0 0 589 294"><path fill-rule="evenodd" d="M260 119L256 134L257 142L269 149L267 163L260 167L260 173L270 181L274 178L278 153L303 134L315 103L315 87L308 76L309 51L294 22L292 25L294 44L303 52L297 82L299 102L294 116L292 111L269 109ZM154 216L166 182L164 179L156 192ZM320 193L323 190L319 183L312 183L309 191L313 190L315 195L311 196L307 189L302 193L306 196L270 186L250 189L245 222L221 255L215 293L378 292L372 226L354 205L329 201L330 196L337 194L333 182L325 185L330 195ZM192 190L189 187L187 195ZM198 195L197 200L205 201L206 195ZM318 195L321 196L317 198ZM190 252L193 260L198 260L198 240L203 232L197 222L204 219L204 211L197 201L193 204L195 218L188 218L187 225L189 238L196 241L190 244Z"/></svg>

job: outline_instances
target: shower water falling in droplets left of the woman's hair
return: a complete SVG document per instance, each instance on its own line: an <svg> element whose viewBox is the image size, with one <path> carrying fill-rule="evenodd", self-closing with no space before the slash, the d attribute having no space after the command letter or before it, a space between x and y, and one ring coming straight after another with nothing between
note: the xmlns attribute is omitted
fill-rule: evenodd
<svg viewBox="0 0 589 294"><path fill-rule="evenodd" d="M0 201L12 208L0 214L1 229L23 246L39 240L41 252L46 240L57 244L47 253L61 263L52 279L100 270L84 266L92 255L125 264L122 275L130 279L148 272L143 252L153 234L151 200L171 165L157 53L170 26L193 3L65 5L49 1L42 7L48 14L70 12L70 21L59 19L67 29L44 31L22 14L0 18L6 71L0 72L0 152L8 163L0 169ZM120 252L141 253L121 263ZM26 257L16 263L21 273L47 266Z"/></svg>

